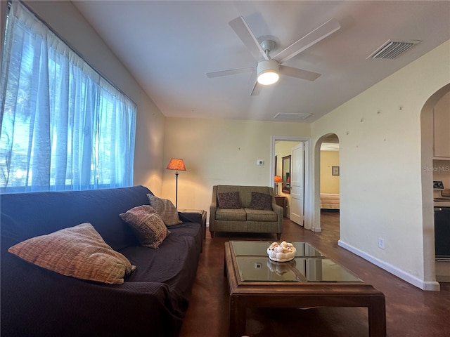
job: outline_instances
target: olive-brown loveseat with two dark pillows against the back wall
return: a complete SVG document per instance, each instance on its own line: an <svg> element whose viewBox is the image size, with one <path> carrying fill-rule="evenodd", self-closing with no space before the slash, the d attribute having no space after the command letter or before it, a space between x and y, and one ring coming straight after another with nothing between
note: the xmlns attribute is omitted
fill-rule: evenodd
<svg viewBox="0 0 450 337"><path fill-rule="evenodd" d="M274 188L267 186L215 185L212 187L210 232L283 232L283 208Z"/></svg>

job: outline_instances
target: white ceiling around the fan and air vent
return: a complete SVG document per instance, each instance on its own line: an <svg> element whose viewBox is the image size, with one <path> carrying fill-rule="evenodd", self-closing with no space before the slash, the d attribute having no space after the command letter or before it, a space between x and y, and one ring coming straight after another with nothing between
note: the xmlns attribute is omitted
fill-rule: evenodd
<svg viewBox="0 0 450 337"><path fill-rule="evenodd" d="M310 123L450 39L450 1L73 1L166 117ZM285 62L321 73L281 77L251 96L252 73L205 74L256 65L229 26L243 16L281 51L330 18L341 28ZM389 39L421 42L395 60L367 60ZM271 53L272 54L272 53ZM449 75L450 77L450 75Z"/></svg>

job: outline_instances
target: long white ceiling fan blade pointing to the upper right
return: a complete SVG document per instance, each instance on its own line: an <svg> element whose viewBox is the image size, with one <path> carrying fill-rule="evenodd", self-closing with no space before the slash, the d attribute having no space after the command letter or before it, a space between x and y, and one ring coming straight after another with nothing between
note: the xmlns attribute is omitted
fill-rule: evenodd
<svg viewBox="0 0 450 337"><path fill-rule="evenodd" d="M322 39L325 39L328 35L333 34L338 29L340 29L340 23L338 20L330 19L323 25L314 29L312 32L306 34L301 39L295 41L293 44L288 46L288 48L285 48L283 51L275 55L274 60L277 60L280 64L286 62L298 53L301 53L310 46L316 44Z"/></svg>

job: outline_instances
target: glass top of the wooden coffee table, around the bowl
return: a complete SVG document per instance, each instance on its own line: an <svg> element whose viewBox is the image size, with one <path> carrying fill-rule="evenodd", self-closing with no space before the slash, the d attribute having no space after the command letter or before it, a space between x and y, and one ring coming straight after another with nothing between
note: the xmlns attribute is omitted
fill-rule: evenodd
<svg viewBox="0 0 450 337"><path fill-rule="evenodd" d="M293 242L297 253L289 262L270 260L266 252L270 244L230 242L241 282L362 282L307 242Z"/></svg>

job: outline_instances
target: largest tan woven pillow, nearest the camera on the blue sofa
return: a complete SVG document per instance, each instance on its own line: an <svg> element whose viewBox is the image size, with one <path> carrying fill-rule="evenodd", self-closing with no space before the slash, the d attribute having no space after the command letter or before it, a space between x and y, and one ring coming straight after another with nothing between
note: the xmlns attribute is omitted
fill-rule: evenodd
<svg viewBox="0 0 450 337"><path fill-rule="evenodd" d="M136 266L114 251L90 223L32 237L8 249L39 267L65 276L122 284Z"/></svg>

